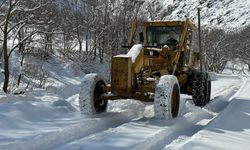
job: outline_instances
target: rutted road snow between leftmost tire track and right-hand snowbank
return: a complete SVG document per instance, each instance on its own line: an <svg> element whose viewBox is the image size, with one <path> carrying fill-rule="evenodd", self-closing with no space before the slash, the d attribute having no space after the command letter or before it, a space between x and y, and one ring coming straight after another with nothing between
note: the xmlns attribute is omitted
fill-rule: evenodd
<svg viewBox="0 0 250 150"><path fill-rule="evenodd" d="M212 83L214 99L204 108L195 107L182 95L180 117L177 119L163 121L142 116L141 119L86 136L56 149L147 150L162 149L164 146L166 149L175 148L216 119L244 84L245 80L237 76L220 76L220 80ZM223 90L218 93L219 89Z"/></svg>

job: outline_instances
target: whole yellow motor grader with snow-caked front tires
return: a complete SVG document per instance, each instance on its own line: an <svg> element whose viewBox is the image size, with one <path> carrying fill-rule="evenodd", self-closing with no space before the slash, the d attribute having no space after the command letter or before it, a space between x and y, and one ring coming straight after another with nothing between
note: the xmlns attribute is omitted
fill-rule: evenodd
<svg viewBox="0 0 250 150"><path fill-rule="evenodd" d="M178 116L180 93L192 95L196 106L210 101L209 74L199 70L199 52L191 49L195 26L185 21L142 23L140 42L127 54L112 57L111 84L87 74L81 85L83 114L106 110L108 100L154 102L156 118Z"/></svg>

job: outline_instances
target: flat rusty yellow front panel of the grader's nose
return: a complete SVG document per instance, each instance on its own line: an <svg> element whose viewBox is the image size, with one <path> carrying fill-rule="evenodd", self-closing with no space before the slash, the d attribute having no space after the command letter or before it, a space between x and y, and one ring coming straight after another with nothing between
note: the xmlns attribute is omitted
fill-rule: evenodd
<svg viewBox="0 0 250 150"><path fill-rule="evenodd" d="M112 58L111 91L121 96L129 96L132 89L132 60L131 57Z"/></svg>

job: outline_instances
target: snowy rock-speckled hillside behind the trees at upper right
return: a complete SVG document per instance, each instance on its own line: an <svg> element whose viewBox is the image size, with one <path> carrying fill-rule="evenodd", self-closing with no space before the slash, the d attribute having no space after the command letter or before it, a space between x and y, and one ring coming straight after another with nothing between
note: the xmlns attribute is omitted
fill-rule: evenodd
<svg viewBox="0 0 250 150"><path fill-rule="evenodd" d="M153 0L149 0L152 2ZM173 10L163 16L164 20L183 20L186 17L197 23L197 7L201 8L202 25L220 28L234 28L250 24L249 0L170 0L161 1L163 7L160 14ZM156 18L160 19L160 18Z"/></svg>

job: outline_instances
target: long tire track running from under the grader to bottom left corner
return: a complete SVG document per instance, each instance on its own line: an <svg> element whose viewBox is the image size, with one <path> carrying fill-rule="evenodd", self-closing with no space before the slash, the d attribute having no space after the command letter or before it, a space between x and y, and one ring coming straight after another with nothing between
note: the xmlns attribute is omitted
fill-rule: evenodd
<svg viewBox="0 0 250 150"><path fill-rule="evenodd" d="M48 132L34 137L26 141L13 142L6 145L0 145L0 149L8 150L44 150L51 149L56 146L83 138L96 132L107 130L108 128L117 127L132 119L138 117L134 112L123 113L104 113L97 115L98 118L89 118L90 120L83 120L83 122L69 127L61 128L54 132ZM85 118L86 119L86 118Z"/></svg>

